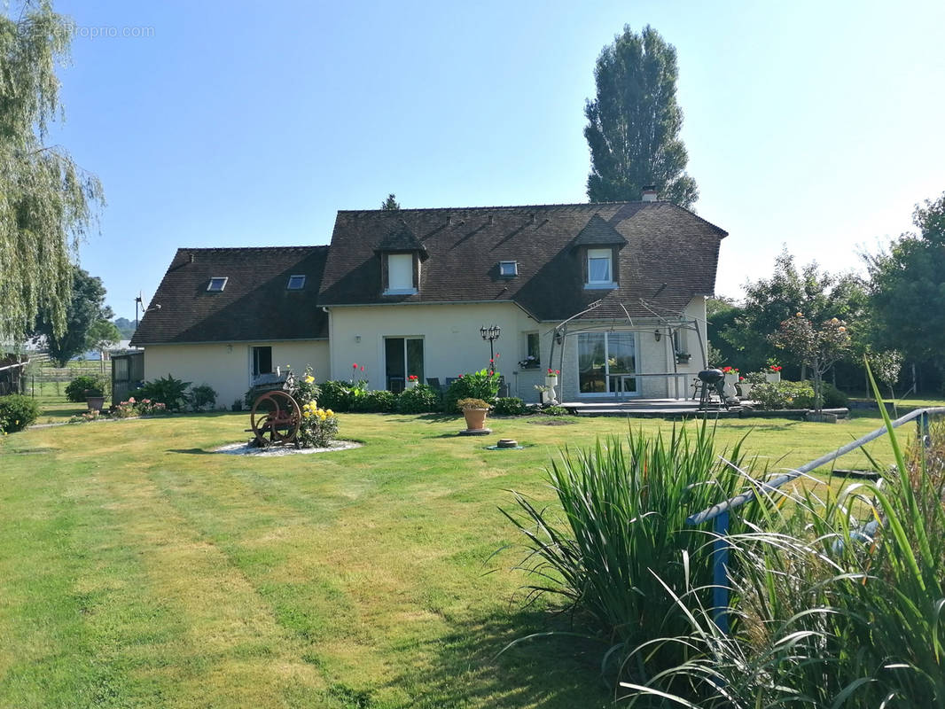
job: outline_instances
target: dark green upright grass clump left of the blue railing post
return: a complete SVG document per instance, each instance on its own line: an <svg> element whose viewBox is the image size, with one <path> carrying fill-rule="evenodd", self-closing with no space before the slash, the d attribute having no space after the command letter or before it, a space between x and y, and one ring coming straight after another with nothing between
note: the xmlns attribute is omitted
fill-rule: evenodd
<svg viewBox="0 0 945 709"><path fill-rule="evenodd" d="M668 436L631 429L626 439L565 448L547 471L559 505L516 493L518 509L503 510L525 538L527 555L517 568L531 579L528 601L551 594L588 616L613 659L685 629L683 609L666 587L678 595L695 587L704 600L712 581L712 540L686 527L685 518L742 492L749 480L741 442L726 454L713 439L703 422L674 427ZM733 526L746 528L741 520ZM674 652L662 662L685 656Z"/></svg>

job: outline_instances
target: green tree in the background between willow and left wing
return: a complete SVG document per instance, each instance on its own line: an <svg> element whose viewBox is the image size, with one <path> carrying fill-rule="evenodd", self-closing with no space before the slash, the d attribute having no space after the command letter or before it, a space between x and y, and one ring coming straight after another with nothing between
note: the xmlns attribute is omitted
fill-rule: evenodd
<svg viewBox="0 0 945 709"><path fill-rule="evenodd" d="M49 356L60 367L65 367L74 356L98 345L99 340L93 342L94 337L113 334L105 325L96 325L111 317L112 308L105 304L102 280L75 266L72 267L72 296L66 308L65 330L57 335L53 314L43 308L36 321L36 333L46 337Z"/></svg>

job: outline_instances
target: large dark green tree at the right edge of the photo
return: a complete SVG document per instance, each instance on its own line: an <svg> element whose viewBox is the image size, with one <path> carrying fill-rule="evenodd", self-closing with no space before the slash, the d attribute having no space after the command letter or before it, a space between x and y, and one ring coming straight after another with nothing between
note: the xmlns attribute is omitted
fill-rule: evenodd
<svg viewBox="0 0 945 709"><path fill-rule="evenodd" d="M945 369L945 193L916 207L919 233L903 234L888 251L867 256L869 303L879 349L936 362Z"/></svg>

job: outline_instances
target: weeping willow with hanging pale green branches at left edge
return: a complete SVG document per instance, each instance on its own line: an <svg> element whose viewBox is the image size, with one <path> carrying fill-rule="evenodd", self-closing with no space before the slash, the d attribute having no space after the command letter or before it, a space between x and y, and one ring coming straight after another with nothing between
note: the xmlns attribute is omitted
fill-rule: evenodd
<svg viewBox="0 0 945 709"><path fill-rule="evenodd" d="M71 25L46 0L0 13L0 340L22 341L42 310L64 332L72 260L101 185L59 146L56 69Z"/></svg>

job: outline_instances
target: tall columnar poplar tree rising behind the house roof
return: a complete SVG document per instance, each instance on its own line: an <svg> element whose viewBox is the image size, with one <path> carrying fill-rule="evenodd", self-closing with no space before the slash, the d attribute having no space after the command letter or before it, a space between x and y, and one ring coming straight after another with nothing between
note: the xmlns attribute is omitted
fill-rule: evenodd
<svg viewBox="0 0 945 709"><path fill-rule="evenodd" d="M685 173L689 156L679 139L682 111L676 102L676 49L650 26L629 26L597 58L597 95L584 109L591 148L588 198L642 199L655 185L661 199L690 207L696 181Z"/></svg>

